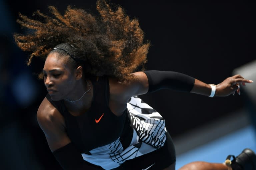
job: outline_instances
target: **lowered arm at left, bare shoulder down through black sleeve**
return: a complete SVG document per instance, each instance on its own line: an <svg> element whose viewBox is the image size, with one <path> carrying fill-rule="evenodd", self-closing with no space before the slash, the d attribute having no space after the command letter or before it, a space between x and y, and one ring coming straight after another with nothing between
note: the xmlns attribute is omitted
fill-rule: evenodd
<svg viewBox="0 0 256 170"><path fill-rule="evenodd" d="M65 132L63 116L46 98L39 106L37 120L49 148L64 170L96 170L83 160L81 153Z"/></svg>

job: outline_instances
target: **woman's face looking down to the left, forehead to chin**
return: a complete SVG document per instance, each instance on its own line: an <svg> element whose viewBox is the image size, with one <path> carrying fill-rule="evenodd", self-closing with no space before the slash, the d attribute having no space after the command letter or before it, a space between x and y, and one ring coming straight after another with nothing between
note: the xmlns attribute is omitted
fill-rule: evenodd
<svg viewBox="0 0 256 170"><path fill-rule="evenodd" d="M70 94L76 84L76 76L70 64L57 53L50 53L43 68L44 84L52 100L58 101Z"/></svg>

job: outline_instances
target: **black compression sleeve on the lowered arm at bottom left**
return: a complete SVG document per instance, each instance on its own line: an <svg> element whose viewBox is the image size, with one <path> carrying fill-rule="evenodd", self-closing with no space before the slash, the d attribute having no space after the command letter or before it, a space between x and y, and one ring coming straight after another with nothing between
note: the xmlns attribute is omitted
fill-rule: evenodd
<svg viewBox="0 0 256 170"><path fill-rule="evenodd" d="M99 170L99 166L85 160L76 147L69 143L53 152L54 157L64 170Z"/></svg>

